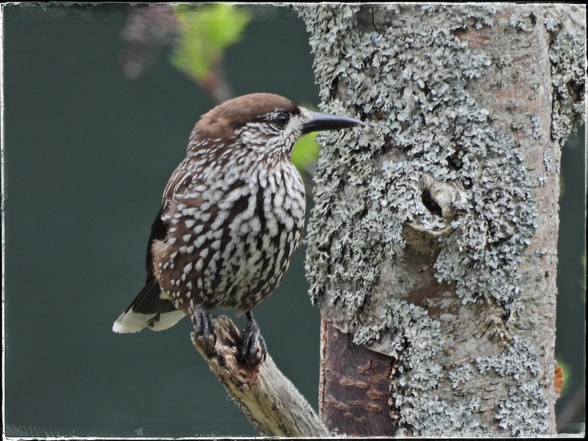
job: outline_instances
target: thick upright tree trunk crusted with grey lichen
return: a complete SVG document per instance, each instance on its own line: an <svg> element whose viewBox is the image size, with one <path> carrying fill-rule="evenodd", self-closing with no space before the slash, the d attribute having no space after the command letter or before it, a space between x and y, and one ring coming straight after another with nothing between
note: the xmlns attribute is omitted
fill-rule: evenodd
<svg viewBox="0 0 588 441"><path fill-rule="evenodd" d="M552 434L560 148L585 8L299 9L323 111L306 273L320 417L356 436Z"/></svg>

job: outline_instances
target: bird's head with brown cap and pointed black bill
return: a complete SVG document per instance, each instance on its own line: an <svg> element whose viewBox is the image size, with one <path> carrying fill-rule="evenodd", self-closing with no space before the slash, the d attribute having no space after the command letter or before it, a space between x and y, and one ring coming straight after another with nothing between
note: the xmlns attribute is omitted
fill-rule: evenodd
<svg viewBox="0 0 588 441"><path fill-rule="evenodd" d="M296 140L305 133L363 125L345 116L309 111L283 96L252 93L223 102L203 115L192 132L188 153L215 144L266 158L289 158Z"/></svg>

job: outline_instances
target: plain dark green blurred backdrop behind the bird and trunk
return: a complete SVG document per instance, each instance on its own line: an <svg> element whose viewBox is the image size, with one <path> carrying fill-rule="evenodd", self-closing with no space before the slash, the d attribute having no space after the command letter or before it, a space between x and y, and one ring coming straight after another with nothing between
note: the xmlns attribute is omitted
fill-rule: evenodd
<svg viewBox="0 0 588 441"><path fill-rule="evenodd" d="M250 9L245 38L226 54L235 94L317 105L302 20L276 6ZM163 186L212 99L166 56L125 79L121 5L3 12L6 433L256 435L193 350L188 320L166 332L111 331L142 286ZM557 409L584 378L582 141L562 160L557 353L572 380ZM304 251L256 320L316 409L319 313Z"/></svg>

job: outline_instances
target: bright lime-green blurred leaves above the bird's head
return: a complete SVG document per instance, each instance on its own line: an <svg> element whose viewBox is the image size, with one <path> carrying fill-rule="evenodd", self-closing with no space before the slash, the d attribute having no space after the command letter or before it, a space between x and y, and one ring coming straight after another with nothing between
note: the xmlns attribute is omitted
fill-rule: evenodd
<svg viewBox="0 0 588 441"><path fill-rule="evenodd" d="M171 55L172 65L196 82L206 81L220 64L225 49L240 41L252 14L223 4L177 5L180 38Z"/></svg>

